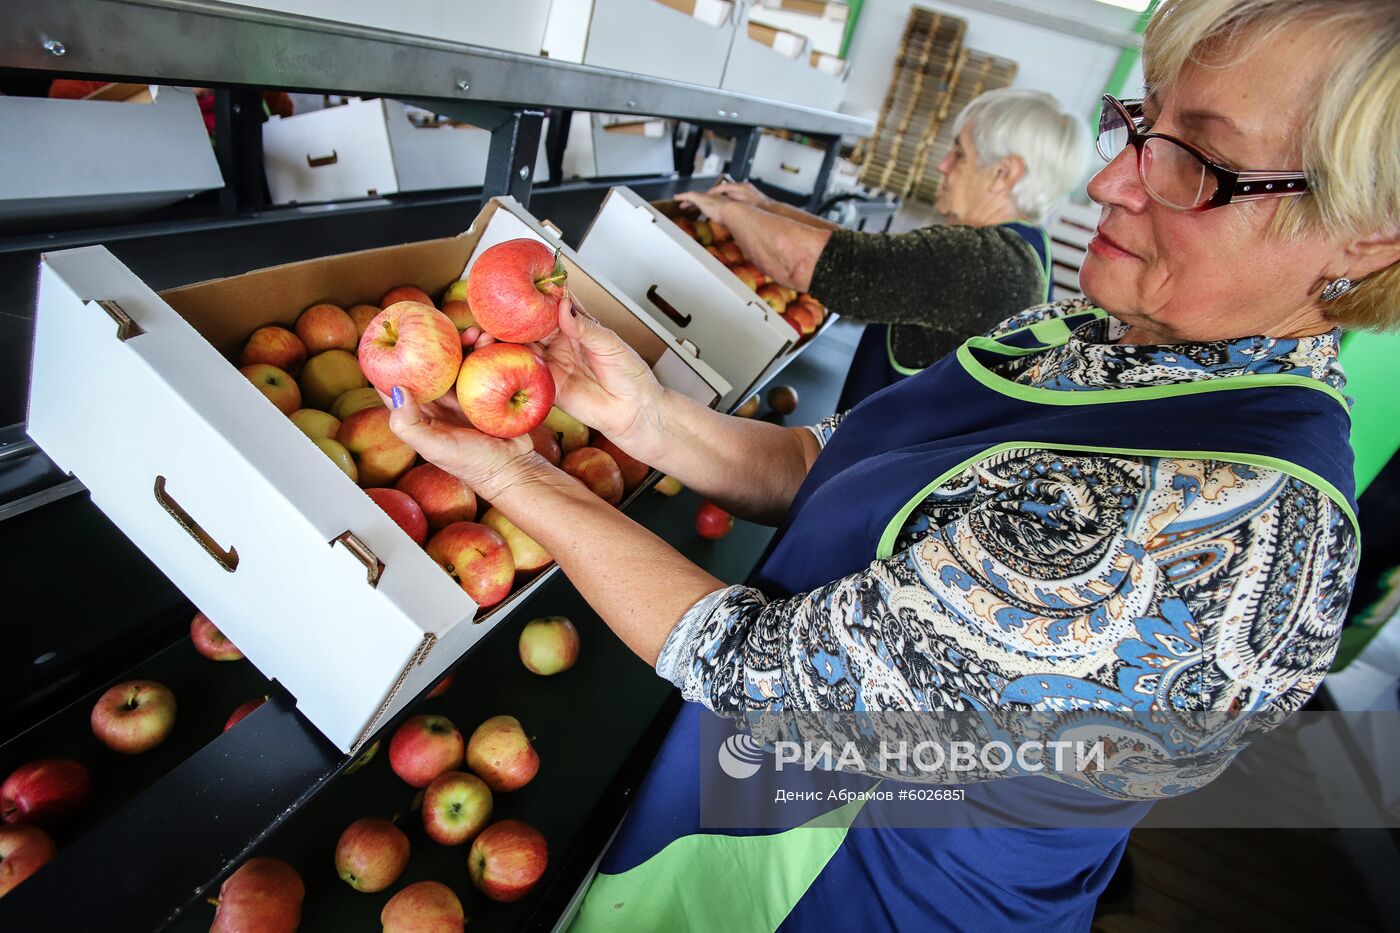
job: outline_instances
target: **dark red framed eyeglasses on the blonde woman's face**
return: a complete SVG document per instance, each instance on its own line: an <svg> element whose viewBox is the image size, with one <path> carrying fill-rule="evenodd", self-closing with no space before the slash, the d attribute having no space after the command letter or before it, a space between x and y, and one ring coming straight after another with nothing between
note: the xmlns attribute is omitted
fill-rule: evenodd
<svg viewBox="0 0 1400 933"><path fill-rule="evenodd" d="M1236 172L1166 133L1142 133L1142 101L1103 95L1099 156L1112 163L1128 144L1137 150L1138 178L1154 200L1173 210L1211 210L1232 202L1288 198L1308 191L1302 172Z"/></svg>

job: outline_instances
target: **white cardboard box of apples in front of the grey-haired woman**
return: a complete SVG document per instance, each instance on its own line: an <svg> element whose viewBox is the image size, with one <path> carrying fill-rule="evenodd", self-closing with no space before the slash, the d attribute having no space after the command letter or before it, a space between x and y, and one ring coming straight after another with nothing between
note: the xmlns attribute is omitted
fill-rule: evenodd
<svg viewBox="0 0 1400 933"><path fill-rule="evenodd" d="M704 247L630 188L608 192L578 244L591 269L617 284L672 336L693 345L729 382L729 409L795 342L783 318Z"/></svg>

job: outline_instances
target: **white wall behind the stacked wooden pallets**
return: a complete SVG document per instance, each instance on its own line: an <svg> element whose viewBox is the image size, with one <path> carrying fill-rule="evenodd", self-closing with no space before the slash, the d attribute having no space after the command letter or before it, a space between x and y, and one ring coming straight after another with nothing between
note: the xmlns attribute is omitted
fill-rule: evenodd
<svg viewBox="0 0 1400 933"><path fill-rule="evenodd" d="M1051 13L1060 18L1131 32L1137 14L1093 0L1008 0L1028 10ZM889 87L904 21L914 7L910 0L865 0L848 50L851 77L841 109L876 119ZM967 21L963 45L1016 62L1014 87L1029 87L1054 94L1072 113L1089 119L1098 111L1099 95L1120 49L1093 39L1067 35L1044 27L983 13L958 3L920 0L925 10L938 10ZM1141 74L1141 73L1138 73ZM1141 84L1141 77L1130 78Z"/></svg>

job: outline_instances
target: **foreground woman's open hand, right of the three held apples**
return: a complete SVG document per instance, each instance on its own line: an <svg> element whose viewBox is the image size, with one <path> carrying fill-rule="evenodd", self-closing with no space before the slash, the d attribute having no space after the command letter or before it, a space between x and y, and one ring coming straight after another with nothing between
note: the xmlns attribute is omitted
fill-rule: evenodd
<svg viewBox="0 0 1400 933"><path fill-rule="evenodd" d="M665 395L651 367L573 296L559 303L559 331L543 345L554 405L645 459L661 434Z"/></svg>

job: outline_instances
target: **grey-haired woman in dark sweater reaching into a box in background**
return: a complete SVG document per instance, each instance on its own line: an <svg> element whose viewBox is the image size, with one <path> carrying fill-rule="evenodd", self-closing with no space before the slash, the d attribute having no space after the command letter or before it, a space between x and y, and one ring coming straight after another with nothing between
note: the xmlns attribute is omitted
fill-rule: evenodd
<svg viewBox="0 0 1400 933"><path fill-rule="evenodd" d="M948 221L904 234L843 230L749 184L685 192L778 284L867 322L837 410L918 373L1008 314L1049 301L1040 224L1084 177L1084 122L1044 91L1000 88L953 122L938 163Z"/></svg>

